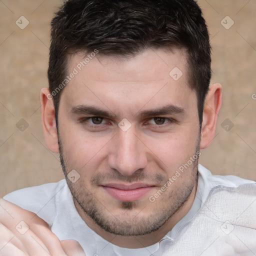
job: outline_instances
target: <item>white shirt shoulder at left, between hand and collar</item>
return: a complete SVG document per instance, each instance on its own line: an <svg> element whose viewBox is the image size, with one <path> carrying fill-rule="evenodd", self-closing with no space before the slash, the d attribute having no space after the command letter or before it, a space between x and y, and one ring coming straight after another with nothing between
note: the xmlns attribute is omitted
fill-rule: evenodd
<svg viewBox="0 0 256 256"><path fill-rule="evenodd" d="M3 196L3 199L30 210L46 222L52 223L56 212L55 197L66 187L66 181L61 179L58 182L15 190Z"/></svg>

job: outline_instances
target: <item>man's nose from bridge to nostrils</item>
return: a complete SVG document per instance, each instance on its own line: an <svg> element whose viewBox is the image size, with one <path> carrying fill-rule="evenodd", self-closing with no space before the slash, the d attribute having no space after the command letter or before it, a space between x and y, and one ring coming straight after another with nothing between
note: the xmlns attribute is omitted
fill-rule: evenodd
<svg viewBox="0 0 256 256"><path fill-rule="evenodd" d="M108 154L108 164L124 176L131 176L135 171L146 167L146 147L132 128L117 131Z"/></svg>

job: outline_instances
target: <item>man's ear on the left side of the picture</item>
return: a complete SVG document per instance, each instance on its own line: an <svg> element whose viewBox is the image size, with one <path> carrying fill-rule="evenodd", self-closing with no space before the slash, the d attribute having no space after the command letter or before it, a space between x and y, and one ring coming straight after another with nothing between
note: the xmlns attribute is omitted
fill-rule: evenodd
<svg viewBox="0 0 256 256"><path fill-rule="evenodd" d="M53 106L53 99L48 88L41 89L40 103L42 130L45 142L50 151L58 153L59 148L55 120L55 109Z"/></svg>

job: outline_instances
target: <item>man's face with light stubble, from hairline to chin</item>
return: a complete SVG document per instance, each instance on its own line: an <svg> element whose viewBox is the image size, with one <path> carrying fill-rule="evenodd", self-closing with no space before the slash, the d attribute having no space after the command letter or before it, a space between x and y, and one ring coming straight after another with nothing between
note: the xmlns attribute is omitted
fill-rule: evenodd
<svg viewBox="0 0 256 256"><path fill-rule="evenodd" d="M81 54L70 58L68 74L78 73L63 89L58 112L63 170L80 175L74 183L67 179L68 186L75 203L106 231L149 233L196 186L197 160L190 157L200 132L185 53L98 54L79 70L82 60Z"/></svg>

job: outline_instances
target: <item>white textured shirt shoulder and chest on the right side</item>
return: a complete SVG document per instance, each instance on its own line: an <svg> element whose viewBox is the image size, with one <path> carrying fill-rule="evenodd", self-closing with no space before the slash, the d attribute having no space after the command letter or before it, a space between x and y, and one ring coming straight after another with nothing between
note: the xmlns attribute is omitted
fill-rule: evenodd
<svg viewBox="0 0 256 256"><path fill-rule="evenodd" d="M212 175L201 165L198 171L200 209L179 229L164 255L195 256L204 250L210 255L256 252L256 182Z"/></svg>

